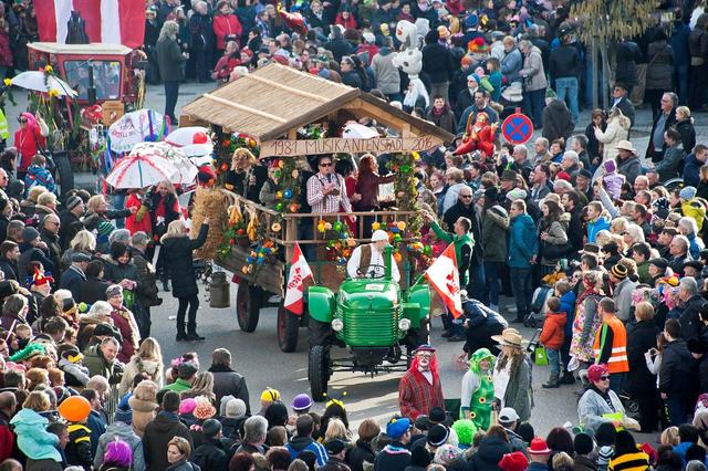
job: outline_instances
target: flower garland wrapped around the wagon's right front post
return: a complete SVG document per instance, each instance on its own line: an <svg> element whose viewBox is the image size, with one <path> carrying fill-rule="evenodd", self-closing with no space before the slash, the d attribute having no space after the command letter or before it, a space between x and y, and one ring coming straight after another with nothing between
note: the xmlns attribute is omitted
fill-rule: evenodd
<svg viewBox="0 0 708 471"><path fill-rule="evenodd" d="M415 176L418 160L420 160L418 153L392 154L391 159L386 163L386 168L396 174L394 189L398 209L414 213L408 219L408 231L412 234L419 234L420 228L423 228L420 205L418 203L418 178Z"/></svg>

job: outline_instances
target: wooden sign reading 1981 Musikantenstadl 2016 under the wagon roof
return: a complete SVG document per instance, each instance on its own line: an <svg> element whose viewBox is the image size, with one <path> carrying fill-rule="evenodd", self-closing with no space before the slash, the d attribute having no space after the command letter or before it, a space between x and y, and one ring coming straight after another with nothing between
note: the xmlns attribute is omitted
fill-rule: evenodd
<svg viewBox="0 0 708 471"><path fill-rule="evenodd" d="M294 157L322 154L391 154L428 150L442 140L436 136L379 137L372 139L346 139L331 137L311 140L267 140L261 143L260 157Z"/></svg>

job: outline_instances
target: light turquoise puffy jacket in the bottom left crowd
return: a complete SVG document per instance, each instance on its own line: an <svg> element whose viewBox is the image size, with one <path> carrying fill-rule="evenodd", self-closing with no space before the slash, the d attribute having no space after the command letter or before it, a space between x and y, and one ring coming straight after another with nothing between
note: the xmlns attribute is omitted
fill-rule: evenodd
<svg viewBox="0 0 708 471"><path fill-rule="evenodd" d="M18 448L33 460L54 460L62 462L62 456L56 448L59 437L46 431L49 420L32 409L21 409L10 420L18 435Z"/></svg>

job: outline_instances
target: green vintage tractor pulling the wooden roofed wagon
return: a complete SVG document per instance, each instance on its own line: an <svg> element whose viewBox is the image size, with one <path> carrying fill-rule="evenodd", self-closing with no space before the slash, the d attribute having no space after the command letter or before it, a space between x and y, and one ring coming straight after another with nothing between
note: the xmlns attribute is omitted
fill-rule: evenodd
<svg viewBox="0 0 708 471"><path fill-rule="evenodd" d="M372 377L405 371L412 350L428 342L428 285L402 290L392 276L392 253L387 247L383 276L347 279L336 294L325 286L309 289L308 379L314 400L324 400L334 371L362 371ZM333 359L335 346L348 348L351 356Z"/></svg>

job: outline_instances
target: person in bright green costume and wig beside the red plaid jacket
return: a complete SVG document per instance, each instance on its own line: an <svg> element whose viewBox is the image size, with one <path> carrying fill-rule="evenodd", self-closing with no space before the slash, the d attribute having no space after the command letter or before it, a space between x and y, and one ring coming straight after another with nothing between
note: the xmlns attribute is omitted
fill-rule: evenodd
<svg viewBox="0 0 708 471"><path fill-rule="evenodd" d="M482 360L489 360L489 368L482 370ZM494 384L492 381L492 370L494 368L494 356L487 348L480 348L472 354L469 359L469 371L462 378L462 395L460 418L467 418L470 411L470 419L478 430L487 430L491 421L491 405L494 400Z"/></svg>

